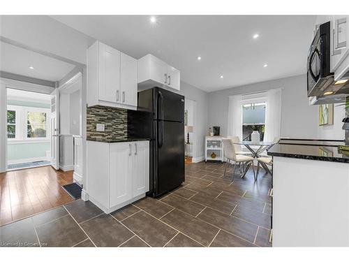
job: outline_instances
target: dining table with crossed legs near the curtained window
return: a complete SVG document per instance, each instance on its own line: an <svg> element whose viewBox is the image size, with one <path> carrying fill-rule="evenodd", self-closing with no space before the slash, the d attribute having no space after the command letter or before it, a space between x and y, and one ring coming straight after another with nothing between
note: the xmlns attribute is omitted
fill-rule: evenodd
<svg viewBox="0 0 349 262"><path fill-rule="evenodd" d="M262 152L265 152L268 147L271 145L274 145L274 142L272 141L239 141L239 142L233 142L235 145L243 145L246 147L252 154L252 157L255 159L258 159L258 157L262 157ZM269 174L272 175L272 171L268 168L268 166L265 163L260 162L260 165L262 168ZM248 168L250 168L251 164L246 165L246 168L244 168L242 172L242 176L244 177L247 173Z"/></svg>

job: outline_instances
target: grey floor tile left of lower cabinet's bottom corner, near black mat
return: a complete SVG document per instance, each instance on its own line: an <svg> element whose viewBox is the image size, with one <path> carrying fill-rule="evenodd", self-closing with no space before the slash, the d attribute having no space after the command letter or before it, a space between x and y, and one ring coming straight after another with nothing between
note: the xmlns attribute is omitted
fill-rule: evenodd
<svg viewBox="0 0 349 262"><path fill-rule="evenodd" d="M81 199L68 203L64 206L74 217L77 223L81 223L83 221L86 221L87 219L91 219L92 217L96 217L98 214L103 213L103 211L96 205L94 205L94 203L92 203L91 201L82 201Z"/></svg>

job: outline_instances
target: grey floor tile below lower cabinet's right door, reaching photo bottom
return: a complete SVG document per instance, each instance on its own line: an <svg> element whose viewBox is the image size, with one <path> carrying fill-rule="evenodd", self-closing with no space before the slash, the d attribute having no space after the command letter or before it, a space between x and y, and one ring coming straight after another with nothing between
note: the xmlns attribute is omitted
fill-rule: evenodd
<svg viewBox="0 0 349 262"><path fill-rule="evenodd" d="M163 247L177 234L170 226L142 211L128 217L122 223L151 247Z"/></svg>

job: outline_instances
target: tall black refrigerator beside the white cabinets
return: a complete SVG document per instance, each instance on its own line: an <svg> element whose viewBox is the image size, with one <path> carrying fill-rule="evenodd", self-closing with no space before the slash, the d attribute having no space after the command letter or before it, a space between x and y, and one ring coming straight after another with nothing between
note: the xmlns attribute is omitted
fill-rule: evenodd
<svg viewBox="0 0 349 262"><path fill-rule="evenodd" d="M160 87L138 92L137 117L128 121L129 136L150 138L149 196L179 187L184 172L184 96Z"/></svg>

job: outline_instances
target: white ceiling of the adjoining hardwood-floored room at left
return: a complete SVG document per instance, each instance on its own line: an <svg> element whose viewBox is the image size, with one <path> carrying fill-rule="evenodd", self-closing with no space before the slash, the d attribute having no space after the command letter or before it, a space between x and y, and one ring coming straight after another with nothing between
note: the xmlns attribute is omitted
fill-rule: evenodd
<svg viewBox="0 0 349 262"><path fill-rule="evenodd" d="M31 78L59 81L75 65L0 41L0 71ZM30 69L32 66L34 69Z"/></svg>

